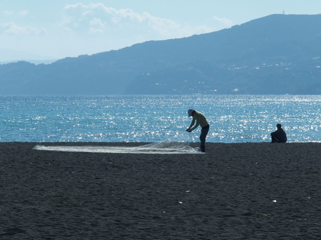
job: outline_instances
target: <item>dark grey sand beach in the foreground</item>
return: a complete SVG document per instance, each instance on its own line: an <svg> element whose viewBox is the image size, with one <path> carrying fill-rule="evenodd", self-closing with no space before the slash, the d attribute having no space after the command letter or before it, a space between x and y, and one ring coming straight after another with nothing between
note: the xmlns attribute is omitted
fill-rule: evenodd
<svg viewBox="0 0 321 240"><path fill-rule="evenodd" d="M1 239L321 239L320 143L162 155L37 144L0 143Z"/></svg>

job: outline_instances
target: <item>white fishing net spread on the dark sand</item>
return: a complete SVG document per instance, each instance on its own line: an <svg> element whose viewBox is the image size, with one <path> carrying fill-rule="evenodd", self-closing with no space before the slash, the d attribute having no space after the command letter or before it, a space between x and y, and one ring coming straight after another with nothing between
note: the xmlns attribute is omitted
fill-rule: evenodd
<svg viewBox="0 0 321 240"><path fill-rule="evenodd" d="M145 154L179 154L202 153L199 148L192 148L186 142L155 142L137 147L107 147L107 146L43 146L36 145L35 150L63 152L93 152L93 153L145 153Z"/></svg>

